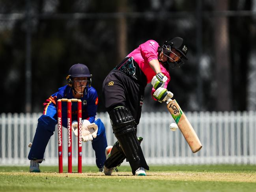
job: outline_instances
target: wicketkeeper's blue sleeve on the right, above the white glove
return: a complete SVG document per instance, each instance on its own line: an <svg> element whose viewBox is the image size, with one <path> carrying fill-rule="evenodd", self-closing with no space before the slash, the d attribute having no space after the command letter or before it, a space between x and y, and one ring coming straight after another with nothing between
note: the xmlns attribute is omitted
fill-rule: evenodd
<svg viewBox="0 0 256 192"><path fill-rule="evenodd" d="M89 98L87 101L87 112L89 116L90 123L93 123L95 121L95 116L97 112L98 107L98 94L97 91L94 88L90 88L88 90Z"/></svg>

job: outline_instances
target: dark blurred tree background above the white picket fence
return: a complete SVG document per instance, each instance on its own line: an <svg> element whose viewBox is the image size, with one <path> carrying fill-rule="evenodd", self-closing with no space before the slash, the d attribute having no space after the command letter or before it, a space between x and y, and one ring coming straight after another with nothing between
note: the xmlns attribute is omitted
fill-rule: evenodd
<svg viewBox="0 0 256 192"><path fill-rule="evenodd" d="M189 60L168 89L185 111L256 110L256 0L0 0L0 112L42 112L86 64L103 80L148 39L180 36ZM145 92L144 111L165 110Z"/></svg>

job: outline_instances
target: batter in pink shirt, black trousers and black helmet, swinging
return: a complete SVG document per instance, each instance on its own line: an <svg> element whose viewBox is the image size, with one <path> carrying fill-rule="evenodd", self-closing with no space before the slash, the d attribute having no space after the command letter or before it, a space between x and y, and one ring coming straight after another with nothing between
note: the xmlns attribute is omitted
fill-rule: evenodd
<svg viewBox="0 0 256 192"><path fill-rule="evenodd" d="M169 71L184 64L187 50L181 37L165 41L161 47L156 41L148 40L128 54L105 78L105 107L118 140L113 147L106 148L105 175L111 175L113 168L125 158L133 175L146 175L149 167L136 136L144 89L151 82L152 96L161 103L167 95L172 97L173 94L166 89L170 81Z"/></svg>

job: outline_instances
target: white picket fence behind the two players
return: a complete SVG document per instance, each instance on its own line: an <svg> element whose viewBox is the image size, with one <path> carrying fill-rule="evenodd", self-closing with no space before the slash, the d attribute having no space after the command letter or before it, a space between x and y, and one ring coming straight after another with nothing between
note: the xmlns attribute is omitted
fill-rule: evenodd
<svg viewBox="0 0 256 192"><path fill-rule="evenodd" d="M202 142L192 153L168 112L142 113L137 136L148 164L256 164L256 112L185 113ZM28 143L32 142L41 114L0 115L0 165L28 165ZM114 144L109 116L99 113L105 123L108 145ZM63 161L67 164L67 130L63 129ZM44 165L58 164L57 134L50 139ZM73 135L73 165L77 164L77 138ZM91 142L83 143L82 164L95 164Z"/></svg>

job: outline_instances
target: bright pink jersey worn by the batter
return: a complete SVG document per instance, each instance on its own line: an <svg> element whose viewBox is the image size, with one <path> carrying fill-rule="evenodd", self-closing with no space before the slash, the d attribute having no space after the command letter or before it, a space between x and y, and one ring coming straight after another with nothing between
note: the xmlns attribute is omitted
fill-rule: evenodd
<svg viewBox="0 0 256 192"><path fill-rule="evenodd" d="M147 83L151 82L153 76L155 76L155 71L148 64L151 60L158 60L158 47L159 44L154 40L148 40L145 43L142 43L138 48L133 50L127 57L133 57L136 63L139 65L140 69L147 77ZM160 63L161 72L167 77L164 88L167 87L170 82L170 74ZM152 88L152 93L155 92L155 89Z"/></svg>

